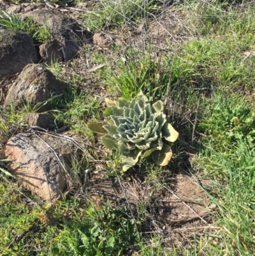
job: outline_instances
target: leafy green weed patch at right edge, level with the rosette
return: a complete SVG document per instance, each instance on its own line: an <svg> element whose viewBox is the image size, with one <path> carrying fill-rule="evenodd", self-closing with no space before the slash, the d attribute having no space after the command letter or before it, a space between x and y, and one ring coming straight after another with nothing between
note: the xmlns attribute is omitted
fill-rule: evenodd
<svg viewBox="0 0 255 256"><path fill-rule="evenodd" d="M238 140L244 140L253 148L255 113L245 103L243 97L228 97L222 94L219 98L215 98L215 104L207 107L207 113L203 121L198 124L198 128L201 132L210 135L214 143L230 145Z"/></svg>

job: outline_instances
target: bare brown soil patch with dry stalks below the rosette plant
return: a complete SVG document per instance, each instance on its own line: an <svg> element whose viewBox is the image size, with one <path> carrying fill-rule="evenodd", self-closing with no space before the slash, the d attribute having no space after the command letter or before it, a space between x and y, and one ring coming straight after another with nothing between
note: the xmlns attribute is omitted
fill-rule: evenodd
<svg viewBox="0 0 255 256"><path fill-rule="evenodd" d="M203 230L210 229L210 213L215 206L210 204L205 192L210 185L206 180L177 175L171 178L171 184L156 191L137 176L132 181L103 176L104 172L100 171L92 174L89 186L92 202L98 207L106 203L126 206L134 216L139 214L140 206L146 206L143 218L147 220L147 232L171 237L172 242L180 246L194 239L194 234L200 236Z"/></svg>

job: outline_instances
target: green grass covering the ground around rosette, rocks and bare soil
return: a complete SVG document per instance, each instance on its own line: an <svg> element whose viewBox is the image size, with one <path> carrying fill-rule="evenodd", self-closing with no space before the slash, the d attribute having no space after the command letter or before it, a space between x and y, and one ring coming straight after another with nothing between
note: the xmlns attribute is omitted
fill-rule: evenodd
<svg viewBox="0 0 255 256"><path fill-rule="evenodd" d="M153 19L151 13L156 13L155 6L161 4L161 1L149 1L145 6L142 2L99 1L85 14L84 23L93 31L107 27L114 32L124 25L138 27L143 19ZM70 181L73 186L70 195L52 206L21 191L11 177L1 172L0 253L255 254L255 56L245 58L245 52L254 50L255 5L251 3L242 9L238 3L230 1L208 4L179 1L175 3L175 10L181 10L179 19L185 24L186 33L192 33L182 43L168 41L169 50L162 52L161 57L152 57L157 48L144 41L142 50L131 44L125 47L127 64L116 57L118 47L111 49L115 54L111 58L101 49L93 52L89 59L92 64L107 62L108 66L91 77L73 72L75 74L68 79L62 75L61 65L48 66L59 79L64 77L70 84L63 98L54 99L52 113L57 122L86 139L90 144L89 154L101 160L96 154L99 138L89 132L87 123L105 121L104 96L96 91L98 87L87 87L89 79L103 86L107 96L110 94L112 98L121 96L130 100L142 90L153 101L163 100L170 123L180 133L179 140L172 146L174 156L170 165L162 169L143 160L124 175L120 172L118 154L108 156L108 162L100 164L108 178L120 177L128 181L143 175L144 186L151 186L157 195L163 195L163 188L169 186L173 173L191 170L209 179L211 185L207 193L217 206L210 223L214 228L201 236L194 235L193 241L185 246L177 246L164 232L157 232L159 226L147 232L147 218L153 217L148 211L152 202L141 199L132 214L129 207L113 206L110 202L95 206L84 191L89 183L85 170L96 170L96 163L85 154L81 162L73 160L75 176ZM163 9L159 8L157 13L161 11ZM10 24L18 22L24 21L14 20ZM77 62L78 59L73 60L68 67L75 70ZM77 85L81 84L86 86L78 89ZM27 111L29 107L23 112L1 109L0 130L4 137L13 134L11 128ZM25 195L37 203L30 204ZM20 234L24 236L18 239Z"/></svg>

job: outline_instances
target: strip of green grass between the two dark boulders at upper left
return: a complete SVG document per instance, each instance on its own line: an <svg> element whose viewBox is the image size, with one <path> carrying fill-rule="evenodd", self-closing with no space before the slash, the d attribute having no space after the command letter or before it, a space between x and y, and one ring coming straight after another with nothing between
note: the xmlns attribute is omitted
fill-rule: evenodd
<svg viewBox="0 0 255 256"><path fill-rule="evenodd" d="M1 12L3 14L0 15L0 26L6 29L24 31L32 36L34 43L45 43L52 38L46 24L38 24L30 17L20 17L15 14L9 14L3 10Z"/></svg>

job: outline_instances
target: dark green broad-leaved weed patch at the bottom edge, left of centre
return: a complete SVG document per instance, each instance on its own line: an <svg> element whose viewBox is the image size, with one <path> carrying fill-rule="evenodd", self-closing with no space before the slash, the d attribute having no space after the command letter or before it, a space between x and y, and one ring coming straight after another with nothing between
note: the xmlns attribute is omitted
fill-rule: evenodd
<svg viewBox="0 0 255 256"><path fill-rule="evenodd" d="M136 248L139 235L128 209L91 205L84 213L54 238L54 255L126 255Z"/></svg>

